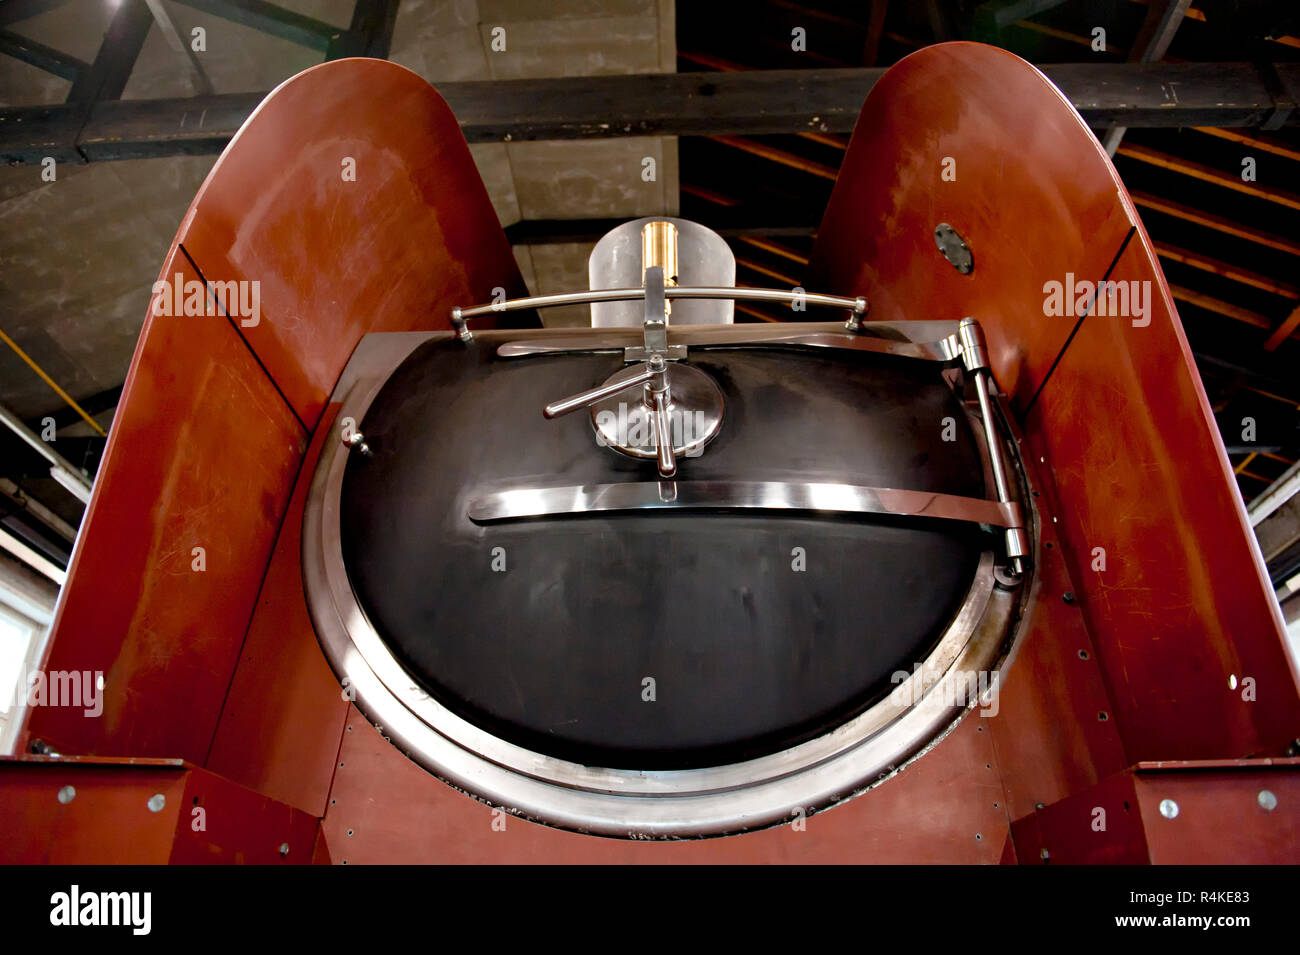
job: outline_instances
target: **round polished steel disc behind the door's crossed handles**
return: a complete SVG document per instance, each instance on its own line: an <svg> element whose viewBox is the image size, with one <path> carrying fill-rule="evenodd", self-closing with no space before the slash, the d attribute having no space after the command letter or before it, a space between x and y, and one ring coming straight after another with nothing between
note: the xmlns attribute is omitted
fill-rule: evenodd
<svg viewBox="0 0 1300 955"><path fill-rule="evenodd" d="M641 369L640 364L629 365L604 383L627 381ZM698 368L668 363L668 395L672 450L679 457L696 457L722 429L722 388ZM645 392L629 388L592 405L592 427L601 446L629 457L653 459L658 453L654 416L654 409L646 405Z"/></svg>

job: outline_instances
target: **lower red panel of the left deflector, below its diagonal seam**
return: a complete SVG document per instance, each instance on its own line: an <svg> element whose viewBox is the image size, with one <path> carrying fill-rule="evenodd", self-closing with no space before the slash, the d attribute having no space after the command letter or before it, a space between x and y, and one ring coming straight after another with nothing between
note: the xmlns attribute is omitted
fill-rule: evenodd
<svg viewBox="0 0 1300 955"><path fill-rule="evenodd" d="M198 279L173 253L161 278L177 274ZM74 752L207 756L304 447L225 317L151 305L44 663L103 672L103 715L35 707L32 735Z"/></svg>

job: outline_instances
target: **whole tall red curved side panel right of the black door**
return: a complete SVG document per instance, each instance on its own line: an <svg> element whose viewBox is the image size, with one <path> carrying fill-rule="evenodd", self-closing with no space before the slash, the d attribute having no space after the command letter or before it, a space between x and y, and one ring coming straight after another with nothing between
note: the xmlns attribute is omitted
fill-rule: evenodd
<svg viewBox="0 0 1300 955"><path fill-rule="evenodd" d="M939 222L968 243L970 274L937 251ZM1046 465L1044 520L1060 521L1131 761L1277 752L1295 735L1280 615L1169 290L1109 159L1043 74L971 43L889 70L810 272L809 287L864 292L871 318L987 330ZM1109 296L1109 317L1087 292L1050 298L1102 279L1136 295L1126 314ZM1230 687L1244 676L1253 700Z"/></svg>

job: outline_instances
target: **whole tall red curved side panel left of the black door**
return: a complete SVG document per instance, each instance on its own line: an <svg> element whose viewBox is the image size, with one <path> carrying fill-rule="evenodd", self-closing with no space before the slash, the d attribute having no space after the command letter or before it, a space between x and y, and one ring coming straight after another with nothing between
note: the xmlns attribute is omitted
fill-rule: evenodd
<svg viewBox="0 0 1300 955"><path fill-rule="evenodd" d="M447 327L452 305L524 286L455 117L377 60L324 64L263 101L160 283L44 664L103 672L104 712L38 707L27 733L70 752L203 763L309 431L356 343ZM291 590L300 600L296 569ZM315 804L326 782L290 789Z"/></svg>

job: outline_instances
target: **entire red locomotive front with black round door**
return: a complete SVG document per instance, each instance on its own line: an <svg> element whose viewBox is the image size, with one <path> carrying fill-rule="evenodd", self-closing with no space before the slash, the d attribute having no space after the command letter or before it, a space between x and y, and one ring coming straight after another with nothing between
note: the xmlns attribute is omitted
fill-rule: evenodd
<svg viewBox="0 0 1300 955"><path fill-rule="evenodd" d="M273 92L155 286L46 661L101 713L30 711L3 858L1300 858L1280 615L1037 70L889 70L805 286L672 217L589 285L528 295L415 74Z"/></svg>

